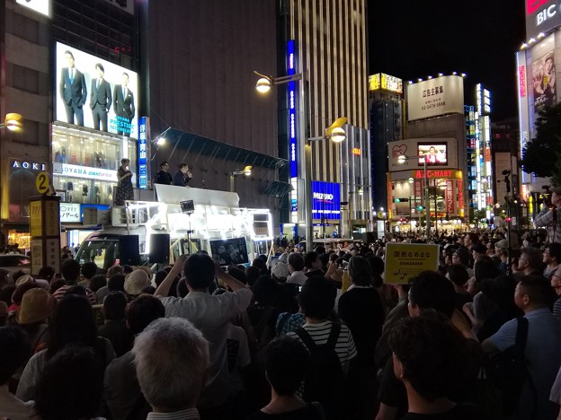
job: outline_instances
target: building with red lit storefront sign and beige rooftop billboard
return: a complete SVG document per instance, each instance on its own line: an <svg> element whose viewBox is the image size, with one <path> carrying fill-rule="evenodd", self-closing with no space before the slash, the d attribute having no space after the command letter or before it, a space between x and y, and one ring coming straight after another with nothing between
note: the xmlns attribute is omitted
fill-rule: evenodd
<svg viewBox="0 0 561 420"><path fill-rule="evenodd" d="M458 229L468 208L463 77L407 83L405 109L404 138L388 144L390 228L424 230L428 213L435 232Z"/></svg>

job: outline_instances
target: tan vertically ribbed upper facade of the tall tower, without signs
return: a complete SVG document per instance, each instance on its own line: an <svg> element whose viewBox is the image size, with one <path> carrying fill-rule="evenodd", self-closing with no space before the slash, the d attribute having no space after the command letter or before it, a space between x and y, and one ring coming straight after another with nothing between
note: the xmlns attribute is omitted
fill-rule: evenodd
<svg viewBox="0 0 561 420"><path fill-rule="evenodd" d="M321 136L336 118L368 130L366 2L286 0L288 39L297 43L298 71L309 90L310 136ZM287 40L288 40L287 39ZM338 147L312 147L312 178L339 182Z"/></svg>

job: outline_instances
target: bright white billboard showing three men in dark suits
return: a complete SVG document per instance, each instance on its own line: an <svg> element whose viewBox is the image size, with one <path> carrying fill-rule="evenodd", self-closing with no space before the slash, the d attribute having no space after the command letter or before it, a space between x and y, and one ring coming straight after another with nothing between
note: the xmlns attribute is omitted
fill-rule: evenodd
<svg viewBox="0 0 561 420"><path fill-rule="evenodd" d="M57 42L55 119L138 138L138 75Z"/></svg>

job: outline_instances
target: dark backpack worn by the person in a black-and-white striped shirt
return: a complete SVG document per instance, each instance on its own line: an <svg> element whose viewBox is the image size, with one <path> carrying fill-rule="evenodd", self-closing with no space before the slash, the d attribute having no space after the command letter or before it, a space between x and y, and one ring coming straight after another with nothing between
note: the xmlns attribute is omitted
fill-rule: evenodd
<svg viewBox="0 0 561 420"><path fill-rule="evenodd" d="M335 352L340 324L333 324L327 343L317 346L306 329L300 327L296 334L310 352L309 366L304 376L302 398L306 402L319 402L325 408L326 418L341 418L344 399L344 374L339 356Z"/></svg>

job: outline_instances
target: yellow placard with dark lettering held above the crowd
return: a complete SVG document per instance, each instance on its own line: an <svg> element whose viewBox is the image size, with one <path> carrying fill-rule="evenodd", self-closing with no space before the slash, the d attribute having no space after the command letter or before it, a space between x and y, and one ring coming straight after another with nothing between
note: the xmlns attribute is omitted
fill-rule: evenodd
<svg viewBox="0 0 561 420"><path fill-rule="evenodd" d="M409 284L422 271L437 271L439 252L438 245L388 242L384 283Z"/></svg>

